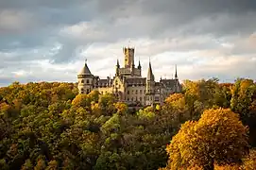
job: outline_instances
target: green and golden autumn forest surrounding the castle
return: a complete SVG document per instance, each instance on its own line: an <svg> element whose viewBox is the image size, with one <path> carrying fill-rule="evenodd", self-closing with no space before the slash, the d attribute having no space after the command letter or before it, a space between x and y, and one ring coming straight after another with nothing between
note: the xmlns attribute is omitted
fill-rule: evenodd
<svg viewBox="0 0 256 170"><path fill-rule="evenodd" d="M0 169L256 169L256 83L184 80L162 106L130 110L76 83L0 88Z"/></svg>

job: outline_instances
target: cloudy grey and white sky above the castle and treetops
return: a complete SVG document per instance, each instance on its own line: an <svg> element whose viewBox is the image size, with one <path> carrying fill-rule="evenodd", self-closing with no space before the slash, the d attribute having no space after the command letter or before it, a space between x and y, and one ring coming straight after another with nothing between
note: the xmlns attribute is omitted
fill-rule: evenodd
<svg viewBox="0 0 256 170"><path fill-rule="evenodd" d="M256 1L0 0L0 86L114 76L125 46L157 80L256 79Z"/></svg>

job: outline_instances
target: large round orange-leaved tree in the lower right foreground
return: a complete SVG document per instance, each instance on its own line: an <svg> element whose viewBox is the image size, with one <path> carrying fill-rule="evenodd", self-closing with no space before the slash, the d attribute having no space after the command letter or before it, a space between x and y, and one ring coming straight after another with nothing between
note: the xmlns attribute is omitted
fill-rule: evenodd
<svg viewBox="0 0 256 170"><path fill-rule="evenodd" d="M166 148L170 169L239 162L247 154L247 127L229 109L205 110L201 118L181 126Z"/></svg>

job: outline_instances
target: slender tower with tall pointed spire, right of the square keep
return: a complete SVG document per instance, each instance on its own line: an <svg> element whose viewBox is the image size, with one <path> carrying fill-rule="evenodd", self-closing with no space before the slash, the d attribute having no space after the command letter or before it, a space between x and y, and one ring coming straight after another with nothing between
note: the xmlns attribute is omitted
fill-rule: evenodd
<svg viewBox="0 0 256 170"><path fill-rule="evenodd" d="M146 76L145 87L145 105L153 105L155 101L155 77L152 72L151 62L149 61L149 67Z"/></svg>

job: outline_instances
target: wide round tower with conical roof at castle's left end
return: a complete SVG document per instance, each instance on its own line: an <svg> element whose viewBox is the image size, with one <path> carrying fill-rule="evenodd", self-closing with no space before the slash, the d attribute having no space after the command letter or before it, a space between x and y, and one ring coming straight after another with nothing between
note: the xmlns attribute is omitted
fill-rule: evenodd
<svg viewBox="0 0 256 170"><path fill-rule="evenodd" d="M82 70L77 75L78 91L79 93L90 93L93 90L94 75L92 75L87 65L87 60Z"/></svg>

